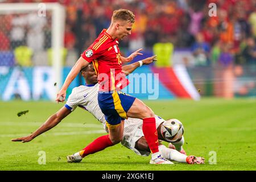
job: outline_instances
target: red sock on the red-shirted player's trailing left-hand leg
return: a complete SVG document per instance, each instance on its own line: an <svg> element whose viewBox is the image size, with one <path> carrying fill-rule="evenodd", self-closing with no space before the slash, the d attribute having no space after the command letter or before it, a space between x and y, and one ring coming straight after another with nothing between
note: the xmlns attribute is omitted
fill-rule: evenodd
<svg viewBox="0 0 256 182"><path fill-rule="evenodd" d="M113 143L109 139L109 135L104 135L95 139L92 143L86 146L79 153L81 157L84 158L86 155L94 154L95 152L104 150L105 148L110 146L113 146Z"/></svg>

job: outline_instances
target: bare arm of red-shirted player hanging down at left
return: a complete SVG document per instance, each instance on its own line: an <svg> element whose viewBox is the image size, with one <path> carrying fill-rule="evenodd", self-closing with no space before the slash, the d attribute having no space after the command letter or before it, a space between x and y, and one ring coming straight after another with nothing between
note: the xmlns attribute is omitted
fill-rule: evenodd
<svg viewBox="0 0 256 182"><path fill-rule="evenodd" d="M68 89L68 86L71 84L71 82L75 79L75 77L79 74L80 70L83 67L86 67L89 62L86 61L84 58L80 57L79 60L77 60L76 64L73 66L71 71L68 73L67 78L65 79L65 82L63 86L61 87L60 91L57 93L56 101L57 102L63 102L66 98L66 91Z"/></svg>

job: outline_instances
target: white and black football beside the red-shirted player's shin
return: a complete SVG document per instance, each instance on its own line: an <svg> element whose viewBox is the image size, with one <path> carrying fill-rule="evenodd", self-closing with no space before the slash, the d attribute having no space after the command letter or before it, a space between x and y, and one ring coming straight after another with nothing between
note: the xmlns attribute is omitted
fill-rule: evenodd
<svg viewBox="0 0 256 182"><path fill-rule="evenodd" d="M161 126L161 134L168 142L176 142L184 133L182 123L178 119L168 119Z"/></svg>

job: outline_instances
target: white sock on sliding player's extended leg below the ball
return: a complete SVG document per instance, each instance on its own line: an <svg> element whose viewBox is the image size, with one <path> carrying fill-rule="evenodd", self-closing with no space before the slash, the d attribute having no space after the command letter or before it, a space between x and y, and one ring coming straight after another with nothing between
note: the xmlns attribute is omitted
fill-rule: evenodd
<svg viewBox="0 0 256 182"><path fill-rule="evenodd" d="M186 163L186 158L187 155L181 154L180 152L172 149L172 148L167 148L166 146L164 146L163 144L158 146L160 154L169 160L174 160L176 162L180 162L180 163Z"/></svg>

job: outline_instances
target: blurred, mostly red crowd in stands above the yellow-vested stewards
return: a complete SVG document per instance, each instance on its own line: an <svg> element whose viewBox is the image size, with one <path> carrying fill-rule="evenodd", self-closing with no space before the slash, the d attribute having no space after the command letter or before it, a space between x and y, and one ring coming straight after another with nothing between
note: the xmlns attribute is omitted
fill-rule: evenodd
<svg viewBox="0 0 256 182"><path fill-rule="evenodd" d="M65 49L80 55L109 26L113 10L135 14L132 35L120 47L152 49L171 42L175 49L190 49L197 65L256 64L256 1L254 0L7 0L60 2L66 8ZM209 3L217 16L210 17ZM1 6L1 3L0 3ZM26 19L24 18L26 16ZM47 13L47 16L51 14ZM27 21L29 23L24 23ZM0 51L28 45L32 51L51 47L51 19L36 14L5 15L0 19ZM30 26L30 27L29 27Z"/></svg>

